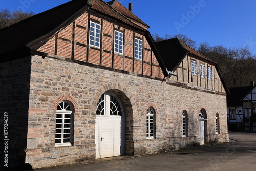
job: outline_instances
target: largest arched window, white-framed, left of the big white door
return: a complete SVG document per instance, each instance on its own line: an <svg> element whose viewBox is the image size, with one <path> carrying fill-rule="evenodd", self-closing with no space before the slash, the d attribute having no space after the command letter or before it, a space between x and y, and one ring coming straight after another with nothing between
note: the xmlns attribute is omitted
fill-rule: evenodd
<svg viewBox="0 0 256 171"><path fill-rule="evenodd" d="M68 102L57 106L55 146L69 146L73 139L73 114Z"/></svg>

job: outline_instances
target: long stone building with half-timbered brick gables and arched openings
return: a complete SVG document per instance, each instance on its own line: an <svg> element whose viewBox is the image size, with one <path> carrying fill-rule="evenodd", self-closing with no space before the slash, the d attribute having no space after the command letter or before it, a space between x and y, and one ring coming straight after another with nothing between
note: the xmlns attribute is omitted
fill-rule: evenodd
<svg viewBox="0 0 256 171"><path fill-rule="evenodd" d="M166 62L148 28L116 0L73 0L0 30L1 113L19 162L52 167L228 141L216 63L192 50Z"/></svg>

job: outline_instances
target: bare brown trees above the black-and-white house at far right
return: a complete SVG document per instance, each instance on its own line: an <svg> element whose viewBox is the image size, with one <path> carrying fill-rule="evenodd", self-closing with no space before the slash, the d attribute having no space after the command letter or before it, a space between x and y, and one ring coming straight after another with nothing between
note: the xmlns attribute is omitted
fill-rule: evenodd
<svg viewBox="0 0 256 171"><path fill-rule="evenodd" d="M248 47L227 48L201 43L198 52L218 63L228 87L248 86L256 80L256 59Z"/></svg>

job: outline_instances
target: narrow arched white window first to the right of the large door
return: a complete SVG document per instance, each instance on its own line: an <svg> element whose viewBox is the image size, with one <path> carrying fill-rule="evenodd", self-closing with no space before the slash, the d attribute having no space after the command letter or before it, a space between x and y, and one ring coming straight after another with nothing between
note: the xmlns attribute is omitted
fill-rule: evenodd
<svg viewBox="0 0 256 171"><path fill-rule="evenodd" d="M155 138L155 111L153 108L147 109L146 114L146 138Z"/></svg>

